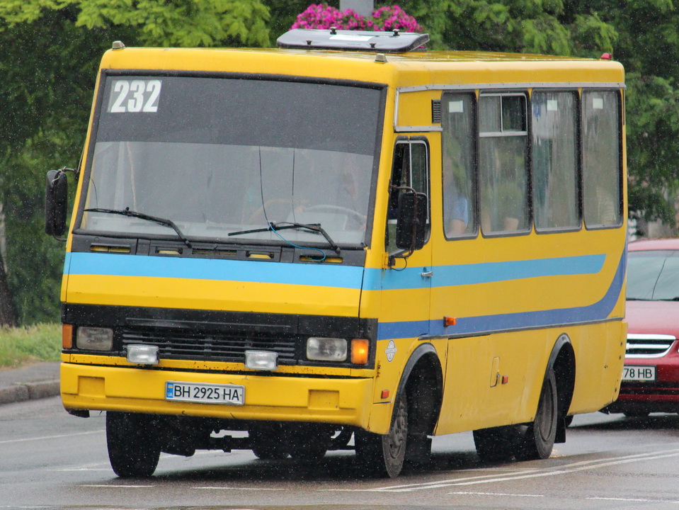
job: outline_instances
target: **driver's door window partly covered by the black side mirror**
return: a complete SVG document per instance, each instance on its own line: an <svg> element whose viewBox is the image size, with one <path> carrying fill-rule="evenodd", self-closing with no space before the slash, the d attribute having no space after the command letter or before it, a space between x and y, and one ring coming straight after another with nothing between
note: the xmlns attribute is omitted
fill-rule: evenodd
<svg viewBox="0 0 679 510"><path fill-rule="evenodd" d="M418 193L429 196L429 147L424 140L402 140L394 147L394 166L389 182L389 210L387 211L387 253L398 251L396 248L396 218L399 210L399 195L404 190L399 187L413 188ZM427 225L430 220L427 215ZM427 234L428 236L428 234Z"/></svg>

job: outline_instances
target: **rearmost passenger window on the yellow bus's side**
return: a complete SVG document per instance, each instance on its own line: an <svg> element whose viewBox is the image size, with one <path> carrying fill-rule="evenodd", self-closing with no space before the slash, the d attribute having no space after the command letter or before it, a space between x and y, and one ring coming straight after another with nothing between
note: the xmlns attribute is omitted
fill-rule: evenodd
<svg viewBox="0 0 679 510"><path fill-rule="evenodd" d="M617 91L583 92L583 213L587 227L617 226L620 197L620 108Z"/></svg>

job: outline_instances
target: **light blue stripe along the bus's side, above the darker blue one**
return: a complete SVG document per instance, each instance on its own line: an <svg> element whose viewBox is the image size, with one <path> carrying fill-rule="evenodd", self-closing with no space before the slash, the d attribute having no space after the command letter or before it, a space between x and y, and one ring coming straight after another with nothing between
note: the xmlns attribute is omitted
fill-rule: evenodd
<svg viewBox="0 0 679 510"><path fill-rule="evenodd" d="M434 266L432 287L453 285L476 285L541 276L568 276L596 274L603 268L605 254L554 257L525 261L483 262L458 264L455 266ZM395 269L366 269L365 290L400 290L428 286L428 280L421 273L430 268L414 267L402 271Z"/></svg>

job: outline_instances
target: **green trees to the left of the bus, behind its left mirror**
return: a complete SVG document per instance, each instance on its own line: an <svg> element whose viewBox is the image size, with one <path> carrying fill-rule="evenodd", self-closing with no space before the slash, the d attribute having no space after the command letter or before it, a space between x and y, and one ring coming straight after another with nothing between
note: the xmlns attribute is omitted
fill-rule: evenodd
<svg viewBox="0 0 679 510"><path fill-rule="evenodd" d="M59 317L64 246L43 232L45 171L77 165L111 42L268 45L268 18L259 0L0 3L0 324Z"/></svg>

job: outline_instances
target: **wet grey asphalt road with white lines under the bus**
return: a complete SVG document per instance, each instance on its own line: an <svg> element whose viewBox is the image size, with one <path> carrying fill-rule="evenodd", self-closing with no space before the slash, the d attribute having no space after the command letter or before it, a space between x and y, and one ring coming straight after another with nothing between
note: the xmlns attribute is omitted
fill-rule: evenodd
<svg viewBox="0 0 679 510"><path fill-rule="evenodd" d="M59 398L0 407L4 509L674 509L679 416L576 416L548 460L479 463L471 433L435 438L433 463L396 480L358 478L353 453L319 463L249 451L162 455L156 475L121 480L104 416L70 416Z"/></svg>

